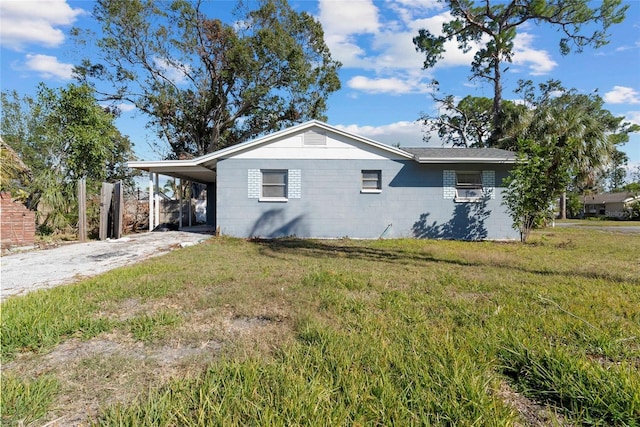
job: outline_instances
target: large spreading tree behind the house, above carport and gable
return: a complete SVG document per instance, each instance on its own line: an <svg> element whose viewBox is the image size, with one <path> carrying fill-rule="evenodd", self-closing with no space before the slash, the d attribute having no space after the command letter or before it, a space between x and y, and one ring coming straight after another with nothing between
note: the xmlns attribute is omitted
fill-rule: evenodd
<svg viewBox="0 0 640 427"><path fill-rule="evenodd" d="M202 155L309 119L325 120L340 88L321 25L286 0L240 2L233 24L210 19L201 2L99 0L102 62L76 68L82 81L109 82L150 117L170 157Z"/></svg>

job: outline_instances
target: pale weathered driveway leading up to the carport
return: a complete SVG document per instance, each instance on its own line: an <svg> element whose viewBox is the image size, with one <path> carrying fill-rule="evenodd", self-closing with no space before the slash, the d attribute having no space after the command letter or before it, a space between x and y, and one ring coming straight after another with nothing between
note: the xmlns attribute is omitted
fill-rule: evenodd
<svg viewBox="0 0 640 427"><path fill-rule="evenodd" d="M210 237L206 228L194 228L193 231L133 234L117 240L71 243L4 255L0 258L0 301L95 276Z"/></svg>

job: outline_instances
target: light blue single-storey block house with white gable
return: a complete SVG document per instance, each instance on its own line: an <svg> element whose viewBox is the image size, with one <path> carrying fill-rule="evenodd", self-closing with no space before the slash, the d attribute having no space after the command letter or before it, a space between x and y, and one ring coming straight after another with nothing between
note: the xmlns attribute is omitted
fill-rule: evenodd
<svg viewBox="0 0 640 427"><path fill-rule="evenodd" d="M498 149L396 148L309 121L129 166L206 184L207 223L225 235L482 240L519 238L502 204L515 161Z"/></svg>

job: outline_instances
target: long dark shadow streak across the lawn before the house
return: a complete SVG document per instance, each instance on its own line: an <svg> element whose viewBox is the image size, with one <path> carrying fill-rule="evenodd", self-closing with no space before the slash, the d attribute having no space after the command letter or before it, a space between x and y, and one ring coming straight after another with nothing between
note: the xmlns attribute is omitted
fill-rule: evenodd
<svg viewBox="0 0 640 427"><path fill-rule="evenodd" d="M438 257L433 254L419 253L413 251L403 251L397 249L373 248L370 246L352 246L341 245L338 243L329 243L321 240L312 239L252 239L252 243L261 246L261 254L264 256L275 256L275 254L295 254L304 255L311 258L348 258L367 261L388 262L394 264L420 265L429 263L444 263L463 267L495 267L512 271L520 271L523 273L536 274L540 276L564 276L564 277L580 277L589 280L609 280L615 283L631 283L640 285L639 278L624 277L615 272L601 271L561 271L548 269L532 269L522 265L516 265L511 262L479 262L467 261L463 259L448 259ZM475 242L466 242L466 244L474 245ZM498 244L498 243L496 243Z"/></svg>

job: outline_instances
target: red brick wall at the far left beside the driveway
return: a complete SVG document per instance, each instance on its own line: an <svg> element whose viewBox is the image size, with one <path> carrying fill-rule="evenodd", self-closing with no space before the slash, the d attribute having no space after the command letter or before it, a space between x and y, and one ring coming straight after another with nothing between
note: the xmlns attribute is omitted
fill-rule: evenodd
<svg viewBox="0 0 640 427"><path fill-rule="evenodd" d="M36 234L35 212L11 200L11 193L0 193L0 241L2 248L33 245Z"/></svg>

